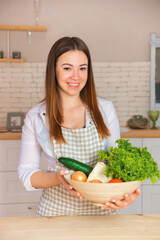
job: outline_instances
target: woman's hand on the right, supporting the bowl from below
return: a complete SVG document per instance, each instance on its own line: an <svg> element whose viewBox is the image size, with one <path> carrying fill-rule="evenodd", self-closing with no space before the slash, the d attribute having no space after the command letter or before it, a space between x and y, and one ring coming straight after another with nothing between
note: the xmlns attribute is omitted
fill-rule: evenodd
<svg viewBox="0 0 160 240"><path fill-rule="evenodd" d="M113 198L111 201L107 201L101 208L108 210L121 210L134 202L141 192L142 191L137 188L132 194L124 194L124 199L119 200L117 198Z"/></svg>

